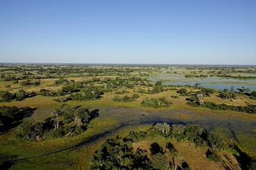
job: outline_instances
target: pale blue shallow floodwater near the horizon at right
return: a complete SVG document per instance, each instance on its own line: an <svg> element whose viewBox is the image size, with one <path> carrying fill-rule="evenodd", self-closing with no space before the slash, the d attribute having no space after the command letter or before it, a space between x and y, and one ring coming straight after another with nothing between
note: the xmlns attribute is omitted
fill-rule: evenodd
<svg viewBox="0 0 256 170"><path fill-rule="evenodd" d="M211 89L230 90L231 86L234 86L234 90L237 88L245 87L250 91L256 90L256 80L243 80L236 78L221 78L221 77L205 77L205 78L185 78L185 74L158 74L156 76L150 76L150 81L163 81L164 85L195 85L200 83L202 87L209 87Z"/></svg>

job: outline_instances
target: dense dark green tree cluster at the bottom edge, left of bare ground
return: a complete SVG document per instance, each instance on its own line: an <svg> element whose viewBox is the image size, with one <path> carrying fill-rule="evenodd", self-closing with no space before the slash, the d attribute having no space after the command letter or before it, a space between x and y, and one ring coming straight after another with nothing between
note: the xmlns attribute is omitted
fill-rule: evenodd
<svg viewBox="0 0 256 170"><path fill-rule="evenodd" d="M166 169L168 159L157 143L150 145L151 159L147 150L136 152L127 138L108 139L91 159L92 169Z"/></svg>

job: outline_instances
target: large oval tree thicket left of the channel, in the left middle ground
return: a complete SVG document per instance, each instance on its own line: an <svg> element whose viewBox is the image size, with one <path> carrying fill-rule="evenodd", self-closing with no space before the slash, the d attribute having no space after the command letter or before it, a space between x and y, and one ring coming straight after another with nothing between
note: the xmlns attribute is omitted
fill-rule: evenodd
<svg viewBox="0 0 256 170"><path fill-rule="evenodd" d="M53 112L53 116L44 122L24 122L20 125L17 136L23 139L61 138L76 136L86 131L90 121L99 116L99 110L63 105Z"/></svg>

